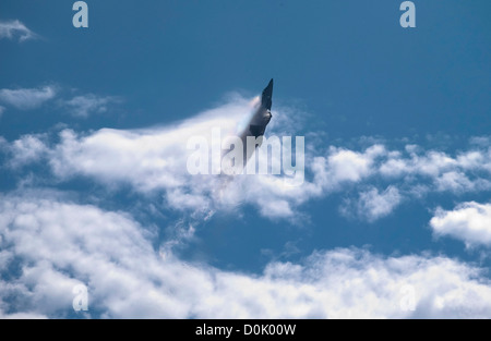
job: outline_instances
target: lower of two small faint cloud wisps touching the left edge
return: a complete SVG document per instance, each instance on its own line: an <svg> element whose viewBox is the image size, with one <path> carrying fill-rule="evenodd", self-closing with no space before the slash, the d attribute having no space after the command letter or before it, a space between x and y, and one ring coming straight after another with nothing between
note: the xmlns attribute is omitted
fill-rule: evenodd
<svg viewBox="0 0 491 341"><path fill-rule="evenodd" d="M0 101L20 110L31 110L40 107L56 96L52 86L41 88L0 89Z"/></svg>

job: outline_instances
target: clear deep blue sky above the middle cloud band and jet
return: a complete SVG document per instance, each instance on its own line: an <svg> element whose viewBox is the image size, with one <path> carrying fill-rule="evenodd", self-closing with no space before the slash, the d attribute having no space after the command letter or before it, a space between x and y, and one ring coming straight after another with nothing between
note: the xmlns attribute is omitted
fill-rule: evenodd
<svg viewBox="0 0 491 341"><path fill-rule="evenodd" d="M393 0L88 5L84 31L65 1L2 1L3 19L43 39L0 42L0 85L122 96L124 114L83 125L133 127L190 117L275 77L276 101L301 102L332 137L488 133L489 1L416 2L415 29L399 26Z"/></svg>

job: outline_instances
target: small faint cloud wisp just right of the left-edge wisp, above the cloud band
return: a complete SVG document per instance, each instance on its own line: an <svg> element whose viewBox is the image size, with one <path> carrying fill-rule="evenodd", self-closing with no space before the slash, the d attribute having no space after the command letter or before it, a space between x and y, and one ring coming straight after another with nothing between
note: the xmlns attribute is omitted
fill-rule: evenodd
<svg viewBox="0 0 491 341"><path fill-rule="evenodd" d="M67 107L70 113L77 118L87 118L93 113L103 113L108 110L108 106L111 103L120 102L117 97L100 97L94 94L84 96L75 96L70 100L62 101L62 105Z"/></svg>

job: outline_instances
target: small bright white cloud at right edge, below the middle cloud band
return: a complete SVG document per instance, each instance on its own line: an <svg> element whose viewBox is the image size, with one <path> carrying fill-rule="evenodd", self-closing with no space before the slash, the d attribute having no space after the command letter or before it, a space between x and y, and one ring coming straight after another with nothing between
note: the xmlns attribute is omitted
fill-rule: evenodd
<svg viewBox="0 0 491 341"><path fill-rule="evenodd" d="M438 208L430 226L435 235L453 236L468 247L491 246L491 204L470 202L451 211Z"/></svg>

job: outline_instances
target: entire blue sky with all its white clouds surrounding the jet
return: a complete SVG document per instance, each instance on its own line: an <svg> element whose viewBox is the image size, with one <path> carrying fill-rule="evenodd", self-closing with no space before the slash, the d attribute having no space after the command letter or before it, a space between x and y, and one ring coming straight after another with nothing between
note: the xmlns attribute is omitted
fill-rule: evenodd
<svg viewBox="0 0 491 341"><path fill-rule="evenodd" d="M400 2L2 1L0 316L489 318L491 4ZM306 183L217 198L187 138L271 77Z"/></svg>

